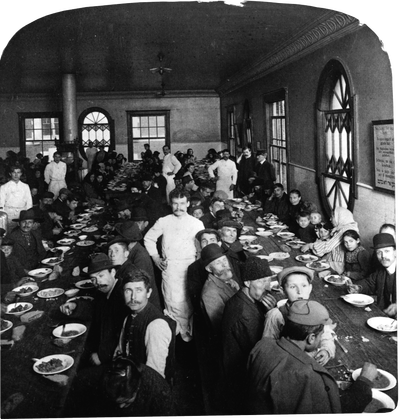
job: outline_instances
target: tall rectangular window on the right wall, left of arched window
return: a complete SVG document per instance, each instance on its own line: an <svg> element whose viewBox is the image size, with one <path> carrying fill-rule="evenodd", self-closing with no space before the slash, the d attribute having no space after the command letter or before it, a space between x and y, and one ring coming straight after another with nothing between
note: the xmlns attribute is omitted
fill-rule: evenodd
<svg viewBox="0 0 400 419"><path fill-rule="evenodd" d="M279 89L264 95L266 148L275 168L276 182L288 190L289 138L287 130L287 91Z"/></svg>

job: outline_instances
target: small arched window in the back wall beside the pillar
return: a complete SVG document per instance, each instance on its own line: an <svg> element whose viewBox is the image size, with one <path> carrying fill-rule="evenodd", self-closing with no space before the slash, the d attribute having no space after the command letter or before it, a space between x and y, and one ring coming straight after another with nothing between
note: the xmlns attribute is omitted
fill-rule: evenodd
<svg viewBox="0 0 400 419"><path fill-rule="evenodd" d="M79 117L78 126L82 146L85 149L89 141L92 141L95 147L103 145L106 151L114 149L113 120L103 109L86 109Z"/></svg>

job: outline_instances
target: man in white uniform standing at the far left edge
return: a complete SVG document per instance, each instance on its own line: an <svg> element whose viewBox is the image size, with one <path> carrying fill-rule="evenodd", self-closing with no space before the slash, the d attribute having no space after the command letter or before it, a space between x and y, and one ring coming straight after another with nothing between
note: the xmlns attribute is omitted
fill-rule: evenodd
<svg viewBox="0 0 400 419"><path fill-rule="evenodd" d="M22 182L22 169L11 166L11 180L0 186L0 209L7 214L7 231L16 227L18 223L12 221L19 218L22 210L32 208L32 195L29 186Z"/></svg>

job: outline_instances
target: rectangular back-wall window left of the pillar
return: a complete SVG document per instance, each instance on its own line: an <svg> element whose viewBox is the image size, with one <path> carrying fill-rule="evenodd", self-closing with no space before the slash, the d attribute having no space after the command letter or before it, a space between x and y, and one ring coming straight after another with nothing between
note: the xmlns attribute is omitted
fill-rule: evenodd
<svg viewBox="0 0 400 419"><path fill-rule="evenodd" d="M61 112L20 112L18 125L21 153L31 161L38 153L51 157L57 150L55 141L63 132Z"/></svg>

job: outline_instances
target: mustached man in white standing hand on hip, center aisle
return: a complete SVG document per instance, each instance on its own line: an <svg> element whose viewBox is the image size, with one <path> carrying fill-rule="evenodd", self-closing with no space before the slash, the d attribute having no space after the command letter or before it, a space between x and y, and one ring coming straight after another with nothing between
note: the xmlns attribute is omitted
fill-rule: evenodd
<svg viewBox="0 0 400 419"><path fill-rule="evenodd" d="M159 218L144 237L144 245L162 272L162 293L168 315L177 322L176 333L192 339L193 308L187 291L187 269L196 260L196 234L204 224L187 213L190 196L174 189L170 193L172 214ZM162 236L162 257L157 240Z"/></svg>

